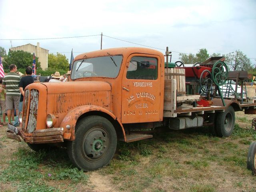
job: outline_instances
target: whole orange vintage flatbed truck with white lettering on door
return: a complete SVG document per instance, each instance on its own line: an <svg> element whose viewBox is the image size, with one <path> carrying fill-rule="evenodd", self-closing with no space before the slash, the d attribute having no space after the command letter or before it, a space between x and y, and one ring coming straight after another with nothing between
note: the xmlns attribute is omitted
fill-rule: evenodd
<svg viewBox="0 0 256 192"><path fill-rule="evenodd" d="M199 95L186 95L184 80L166 78L164 54L148 48L112 48L76 56L69 82L26 87L20 127L8 125L8 138L33 150L64 146L78 168L107 165L117 141L151 138L156 131L210 125L218 136L232 134L235 111L256 112L255 103L215 98L196 107ZM183 69L184 70L184 69ZM184 76L184 75L183 75ZM169 76L170 77L170 76ZM178 77L178 78L177 78ZM179 86L178 86L179 85Z"/></svg>

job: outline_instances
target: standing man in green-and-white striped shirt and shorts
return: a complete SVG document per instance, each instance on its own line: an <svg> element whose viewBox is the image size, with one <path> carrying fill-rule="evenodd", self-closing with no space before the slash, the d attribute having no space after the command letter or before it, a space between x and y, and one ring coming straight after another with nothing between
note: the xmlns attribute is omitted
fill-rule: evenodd
<svg viewBox="0 0 256 192"><path fill-rule="evenodd" d="M16 72L16 65L11 64L10 72L4 76L2 82L2 88L6 89L6 109L9 124L11 124L13 106L16 110L16 118L18 118L19 114L20 89L18 85L20 82L20 76L16 74Z"/></svg>

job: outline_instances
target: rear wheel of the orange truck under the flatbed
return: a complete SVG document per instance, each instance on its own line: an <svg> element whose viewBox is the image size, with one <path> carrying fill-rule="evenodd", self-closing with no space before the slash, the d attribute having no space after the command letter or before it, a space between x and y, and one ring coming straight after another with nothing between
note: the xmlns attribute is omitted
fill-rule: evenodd
<svg viewBox="0 0 256 192"><path fill-rule="evenodd" d="M235 111L232 106L226 108L225 112L218 113L215 128L219 137L229 137L235 126Z"/></svg>

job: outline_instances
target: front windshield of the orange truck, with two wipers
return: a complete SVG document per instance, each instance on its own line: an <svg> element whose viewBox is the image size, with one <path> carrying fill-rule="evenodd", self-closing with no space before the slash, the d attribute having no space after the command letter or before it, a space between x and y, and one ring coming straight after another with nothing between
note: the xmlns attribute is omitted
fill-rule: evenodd
<svg viewBox="0 0 256 192"><path fill-rule="evenodd" d="M72 68L71 78L84 77L112 77L118 76L123 56L102 56L86 58L75 61Z"/></svg>

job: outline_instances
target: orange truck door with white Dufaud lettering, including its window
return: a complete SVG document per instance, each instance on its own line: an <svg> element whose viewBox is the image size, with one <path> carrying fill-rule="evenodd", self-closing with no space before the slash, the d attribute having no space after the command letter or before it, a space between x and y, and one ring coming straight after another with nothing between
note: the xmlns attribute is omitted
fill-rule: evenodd
<svg viewBox="0 0 256 192"><path fill-rule="evenodd" d="M132 54L122 77L122 123L160 121L161 58ZM161 108L162 109L162 108Z"/></svg>

